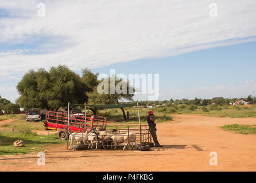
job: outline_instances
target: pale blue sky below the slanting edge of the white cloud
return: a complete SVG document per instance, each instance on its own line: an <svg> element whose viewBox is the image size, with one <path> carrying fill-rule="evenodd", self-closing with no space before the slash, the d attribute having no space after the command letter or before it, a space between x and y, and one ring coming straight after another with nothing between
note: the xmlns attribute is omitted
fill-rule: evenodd
<svg viewBox="0 0 256 183"><path fill-rule="evenodd" d="M170 98L212 98L212 97L246 97L256 92L256 87L250 90L234 90L215 94L215 91L203 93L189 93L193 87L214 87L217 85L232 85L244 87L246 82L254 84L256 68L256 42L243 43L239 45L216 47L213 49L194 51L183 55L177 55L159 59L140 59L127 63L117 63L110 66L92 69L94 73L105 73L110 75L110 69L115 73L128 74L160 74L160 100ZM80 74L80 71L76 71ZM11 81L1 81L1 85L14 87L20 78ZM182 90L179 95L176 90ZM17 92L1 93L2 97L14 101ZM145 100L146 96L136 98Z"/></svg>

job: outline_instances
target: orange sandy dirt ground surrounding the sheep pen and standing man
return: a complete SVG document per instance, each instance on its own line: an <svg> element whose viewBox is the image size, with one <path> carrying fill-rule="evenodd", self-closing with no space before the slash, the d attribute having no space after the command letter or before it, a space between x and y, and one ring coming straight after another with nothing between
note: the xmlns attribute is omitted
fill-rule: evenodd
<svg viewBox="0 0 256 183"><path fill-rule="evenodd" d="M45 166L37 154L0 156L0 171L256 171L256 135L226 132L225 124L256 124L256 118L173 115L174 122L157 125L164 148L68 152L65 145L46 148ZM218 154L211 166L210 153Z"/></svg>

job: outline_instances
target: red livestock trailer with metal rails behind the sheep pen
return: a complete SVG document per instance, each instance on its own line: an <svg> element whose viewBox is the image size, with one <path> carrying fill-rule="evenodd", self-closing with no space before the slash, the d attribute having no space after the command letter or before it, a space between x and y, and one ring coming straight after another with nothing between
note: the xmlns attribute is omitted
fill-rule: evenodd
<svg viewBox="0 0 256 183"><path fill-rule="evenodd" d="M86 120L85 120L86 117ZM69 130L68 130L69 121ZM95 116L83 113L69 113L64 111L47 111L45 116L45 130L57 130L59 131L59 139L67 140L68 133L84 133L87 129L100 127L106 129L107 118L102 116ZM84 128L86 127L86 128ZM85 130L86 129L86 130Z"/></svg>

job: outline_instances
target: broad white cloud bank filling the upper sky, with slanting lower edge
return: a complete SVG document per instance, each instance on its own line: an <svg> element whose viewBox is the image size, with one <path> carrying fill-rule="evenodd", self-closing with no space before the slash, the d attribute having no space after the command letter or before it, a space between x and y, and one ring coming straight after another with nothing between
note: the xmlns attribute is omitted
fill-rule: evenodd
<svg viewBox="0 0 256 183"><path fill-rule="evenodd" d="M99 0L44 1L41 18L37 2L0 0L0 9L10 11L0 20L0 44L38 39L29 49L0 50L0 78L38 67L95 68L256 40L254 0L217 0L218 17L209 16L211 1Z"/></svg>

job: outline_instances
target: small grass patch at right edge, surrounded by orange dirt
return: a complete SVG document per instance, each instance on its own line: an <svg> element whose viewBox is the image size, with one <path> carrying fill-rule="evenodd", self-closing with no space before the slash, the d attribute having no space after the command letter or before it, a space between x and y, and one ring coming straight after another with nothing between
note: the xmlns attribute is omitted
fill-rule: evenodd
<svg viewBox="0 0 256 183"><path fill-rule="evenodd" d="M227 131L233 131L239 134L256 134L256 128L253 128L255 125L225 125L220 128L227 130Z"/></svg>

